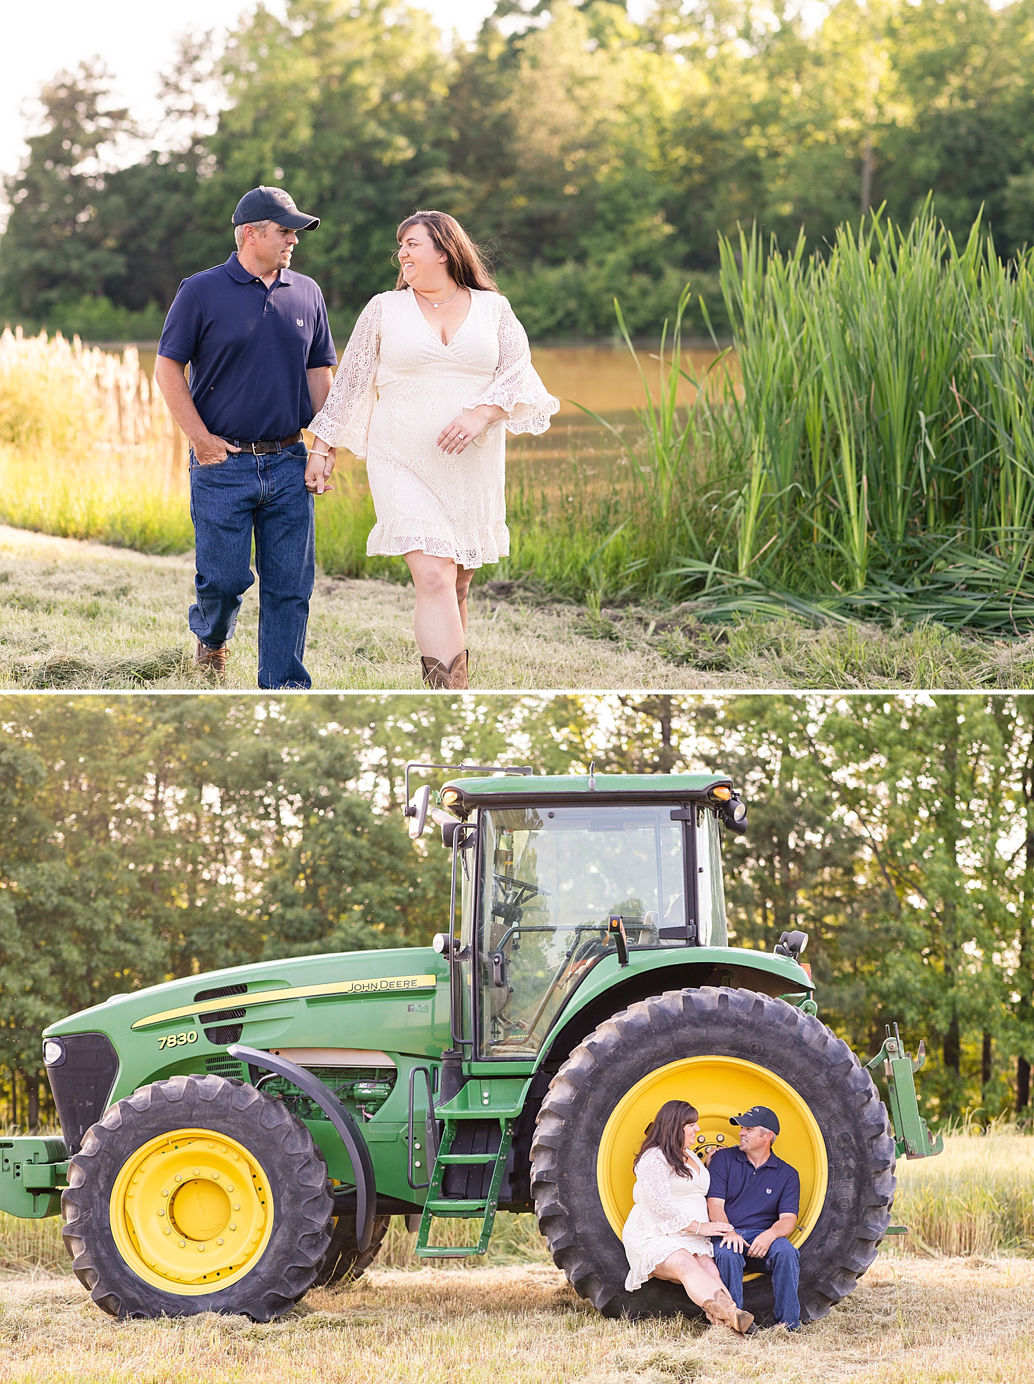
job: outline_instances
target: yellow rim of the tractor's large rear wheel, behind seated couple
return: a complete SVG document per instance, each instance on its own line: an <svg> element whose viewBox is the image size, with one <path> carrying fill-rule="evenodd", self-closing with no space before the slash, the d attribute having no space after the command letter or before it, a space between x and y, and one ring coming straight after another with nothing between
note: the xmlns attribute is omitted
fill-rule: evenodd
<svg viewBox="0 0 1034 1384"><path fill-rule="evenodd" d="M750 1106L768 1106L779 1117L775 1154L800 1174L800 1215L790 1240L800 1246L818 1221L826 1199L829 1167L822 1131L807 1102L774 1071L739 1057L685 1057L657 1067L617 1102L604 1128L597 1157L597 1182L606 1219L617 1235L633 1208L633 1158L646 1125L666 1100L688 1100L700 1114L707 1145L721 1135L738 1147L729 1116Z"/></svg>

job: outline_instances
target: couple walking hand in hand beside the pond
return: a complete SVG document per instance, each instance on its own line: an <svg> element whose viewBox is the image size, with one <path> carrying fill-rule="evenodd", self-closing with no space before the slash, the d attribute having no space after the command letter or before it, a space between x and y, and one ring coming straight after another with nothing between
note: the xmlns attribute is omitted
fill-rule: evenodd
<svg viewBox="0 0 1034 1384"><path fill-rule="evenodd" d="M230 259L180 285L155 370L191 444L195 662L226 670L253 537L259 686L311 686L313 497L334 489L347 447L365 458L377 511L367 554L412 573L424 681L465 688L471 579L509 552L505 430L545 432L559 408L525 329L460 223L415 212L396 233L396 286L364 307L335 375L323 293L289 267L320 219L257 187L233 223Z"/></svg>

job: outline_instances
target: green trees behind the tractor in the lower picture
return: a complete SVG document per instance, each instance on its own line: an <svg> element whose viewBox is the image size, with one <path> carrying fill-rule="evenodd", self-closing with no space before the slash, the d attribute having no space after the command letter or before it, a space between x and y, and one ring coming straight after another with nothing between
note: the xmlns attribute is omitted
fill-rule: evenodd
<svg viewBox="0 0 1034 1384"><path fill-rule="evenodd" d="M714 768L731 943L808 933L861 1055L925 1038L936 1120L1030 1116L1034 703L1027 696L0 699L0 1109L48 1111L40 1032L165 978L426 943L447 855L410 843L408 758L536 772ZM440 781L440 779L439 779Z"/></svg>

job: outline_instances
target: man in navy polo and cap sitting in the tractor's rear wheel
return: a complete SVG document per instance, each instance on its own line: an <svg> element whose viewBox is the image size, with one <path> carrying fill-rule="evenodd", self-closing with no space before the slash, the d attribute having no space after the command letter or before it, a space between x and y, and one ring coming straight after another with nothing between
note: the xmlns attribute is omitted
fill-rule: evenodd
<svg viewBox="0 0 1034 1384"><path fill-rule="evenodd" d="M714 1264L736 1306L743 1306L743 1272L771 1273L775 1319L790 1331L800 1326L797 1251L786 1236L797 1223L800 1178L777 1158L772 1143L779 1121L768 1106L752 1106L729 1124L739 1125L739 1147L718 1149L707 1171L707 1215L736 1229L714 1246Z"/></svg>

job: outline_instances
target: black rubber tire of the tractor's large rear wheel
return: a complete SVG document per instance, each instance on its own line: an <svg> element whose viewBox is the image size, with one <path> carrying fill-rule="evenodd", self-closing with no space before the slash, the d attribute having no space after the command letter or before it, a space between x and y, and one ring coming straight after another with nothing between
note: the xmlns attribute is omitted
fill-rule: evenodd
<svg viewBox="0 0 1034 1384"><path fill-rule="evenodd" d="M559 1068L538 1113L532 1145L538 1228L574 1290L605 1316L699 1315L678 1284L651 1279L626 1291L628 1262L604 1207L597 1150L638 1082L680 1060L707 1057L732 1059L747 1074L772 1073L803 1098L821 1131L828 1182L800 1246L799 1290L803 1319L817 1320L876 1257L894 1197L894 1143L872 1078L847 1044L782 999L714 987L670 991L599 1024ZM692 1081L682 1099L693 1100ZM642 1121L637 1139L641 1128ZM767 1276L745 1284L745 1306L771 1323Z"/></svg>

